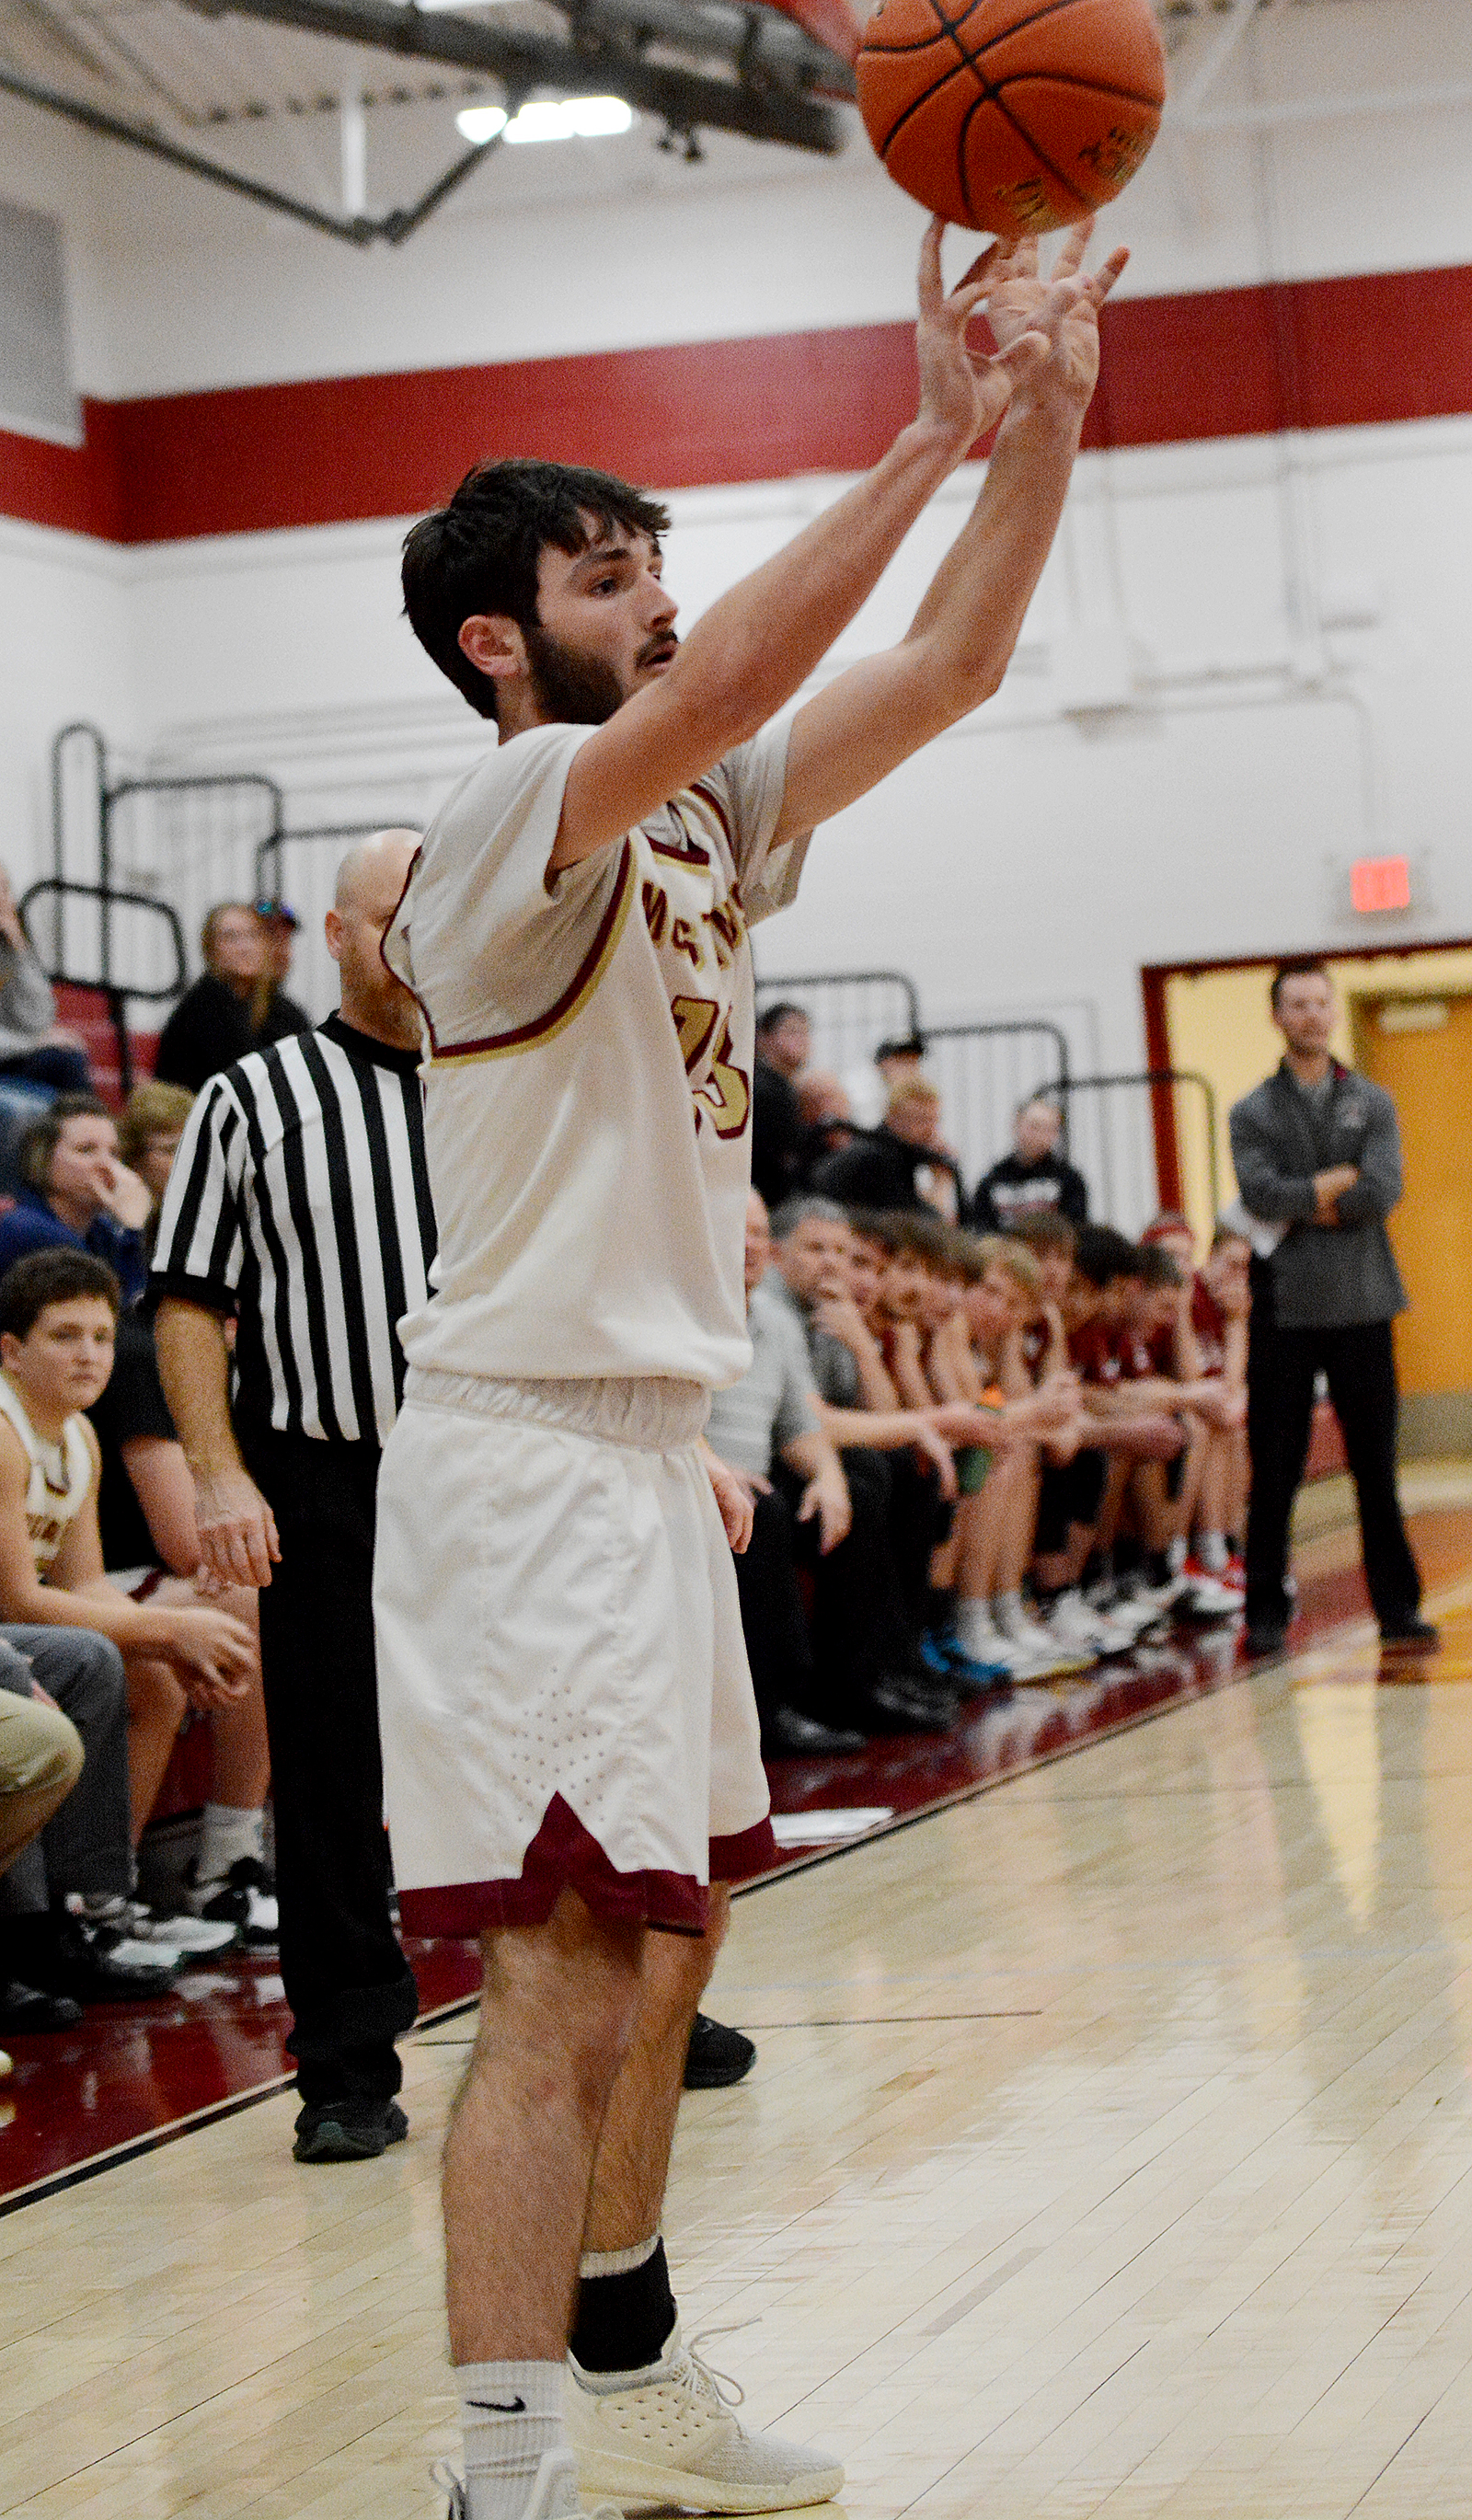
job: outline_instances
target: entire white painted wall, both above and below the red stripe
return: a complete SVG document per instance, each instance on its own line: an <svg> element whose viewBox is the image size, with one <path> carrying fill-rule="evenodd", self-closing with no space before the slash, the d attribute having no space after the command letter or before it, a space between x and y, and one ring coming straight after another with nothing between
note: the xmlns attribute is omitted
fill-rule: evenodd
<svg viewBox="0 0 1472 2520"><path fill-rule="evenodd" d="M1464 0L1323 0L1273 10L1212 103L1457 81ZM1134 239L1139 290L1472 262L1469 139L1457 103L1167 129L1107 227ZM0 159L5 192L68 224L78 378L103 393L900 318L920 229L862 141L837 166L741 144L706 169L643 141L504 154L401 255L320 244L3 101ZM688 615L839 489L681 494ZM925 519L842 655L897 635L965 494ZM0 527L18 872L48 847L45 751L71 716L164 766L267 769L292 822L423 819L479 733L398 620L398 539L116 554ZM1356 854L1414 859L1391 942L1472 935L1469 612L1472 421L1091 456L1006 690L842 816L761 958L900 963L933 1021L1066 1008L1076 1063L1137 1066L1142 963L1356 940ZM1112 685L1124 706L1069 706ZM139 811L124 844L189 922L250 885L227 811L204 837ZM320 847L287 872L313 922L330 864ZM328 1003L315 948L302 973Z"/></svg>

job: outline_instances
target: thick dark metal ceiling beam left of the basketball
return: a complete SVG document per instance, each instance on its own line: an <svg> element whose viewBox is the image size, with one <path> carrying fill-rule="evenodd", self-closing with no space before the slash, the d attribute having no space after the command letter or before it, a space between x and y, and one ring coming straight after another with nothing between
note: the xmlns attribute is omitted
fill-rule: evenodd
<svg viewBox="0 0 1472 2520"><path fill-rule="evenodd" d="M439 60L456 71L497 78L509 98L532 88L557 88L562 96L618 93L645 113L663 116L676 131L736 131L754 141L781 141L786 149L814 149L837 156L844 146L839 116L791 86L791 45L776 50L766 35L766 13L751 10L754 40L731 78L711 78L676 63L650 60L638 38L650 18L610 0L585 0L572 10L567 38L527 35L504 25L476 25L454 13L401 8L398 0L187 0L202 18L239 15L265 25L290 25L340 43L365 43L381 53L411 60ZM650 0L650 10L658 0ZM698 10L658 10L681 28L681 50L706 50ZM726 13L723 13L726 15ZM633 40L630 40L633 35ZM673 43L673 33L658 30ZM802 38L807 43L807 38ZM716 50L716 43L711 43ZM824 83L839 93L852 86L852 71L822 45L807 43ZM781 73L781 76L779 76Z"/></svg>

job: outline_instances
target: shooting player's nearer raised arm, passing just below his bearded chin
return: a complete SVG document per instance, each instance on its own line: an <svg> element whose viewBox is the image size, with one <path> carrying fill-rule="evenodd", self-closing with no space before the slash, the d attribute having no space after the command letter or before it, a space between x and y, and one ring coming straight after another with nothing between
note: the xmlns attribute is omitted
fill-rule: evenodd
<svg viewBox="0 0 1472 2520"><path fill-rule="evenodd" d="M1044 360L1046 338L1026 323L1013 325L996 355L968 348L996 249L948 295L940 237L935 219L920 255L915 421L837 507L711 605L658 680L590 736L567 774L552 869L620 839L802 690L935 489L996 426L1013 383ZM673 607L665 610L673 620Z"/></svg>

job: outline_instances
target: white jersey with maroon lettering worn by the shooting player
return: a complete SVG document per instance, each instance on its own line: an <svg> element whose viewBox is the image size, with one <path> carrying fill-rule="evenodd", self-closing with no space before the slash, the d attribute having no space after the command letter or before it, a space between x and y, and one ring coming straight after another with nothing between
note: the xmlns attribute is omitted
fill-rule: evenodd
<svg viewBox="0 0 1472 2520"><path fill-rule="evenodd" d="M590 726L502 743L431 824L383 942L426 1028L439 1217L411 1366L736 1381L749 1361L754 980L796 892L786 726L547 882Z"/></svg>

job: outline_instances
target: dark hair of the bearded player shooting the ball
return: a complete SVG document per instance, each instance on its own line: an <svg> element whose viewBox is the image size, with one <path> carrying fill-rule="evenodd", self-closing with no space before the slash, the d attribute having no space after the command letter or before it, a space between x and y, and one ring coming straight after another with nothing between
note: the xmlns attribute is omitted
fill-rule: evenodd
<svg viewBox="0 0 1472 2520"><path fill-rule="evenodd" d="M590 534L592 524L592 534ZM504 612L539 627L537 562L547 547L585 552L597 534L648 534L658 544L670 512L615 474L585 464L509 456L476 464L449 507L403 537L403 610L418 645L481 718L497 716L497 685L459 645L474 612Z"/></svg>

